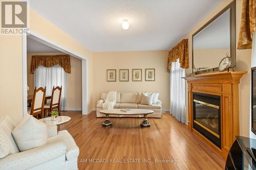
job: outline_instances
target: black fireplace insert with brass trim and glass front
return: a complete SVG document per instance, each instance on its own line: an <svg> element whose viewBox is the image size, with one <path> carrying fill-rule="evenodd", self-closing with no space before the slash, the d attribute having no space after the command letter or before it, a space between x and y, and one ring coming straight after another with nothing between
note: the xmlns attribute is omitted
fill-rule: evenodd
<svg viewBox="0 0 256 170"><path fill-rule="evenodd" d="M221 96L193 92L193 128L221 149Z"/></svg>

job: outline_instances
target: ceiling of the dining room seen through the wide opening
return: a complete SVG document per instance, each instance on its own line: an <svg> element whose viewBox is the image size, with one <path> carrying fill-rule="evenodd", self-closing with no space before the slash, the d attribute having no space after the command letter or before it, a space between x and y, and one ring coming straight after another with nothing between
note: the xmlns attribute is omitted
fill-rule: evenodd
<svg viewBox="0 0 256 170"><path fill-rule="evenodd" d="M60 51L42 44L33 39L27 38L27 53L59 53Z"/></svg>

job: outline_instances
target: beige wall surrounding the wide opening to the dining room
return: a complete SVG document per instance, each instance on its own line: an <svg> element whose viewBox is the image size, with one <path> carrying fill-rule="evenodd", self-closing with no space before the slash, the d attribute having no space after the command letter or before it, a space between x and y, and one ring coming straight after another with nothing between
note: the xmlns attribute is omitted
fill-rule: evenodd
<svg viewBox="0 0 256 170"><path fill-rule="evenodd" d="M87 58L88 110L92 111L92 52L68 34L41 17L32 9L29 11L29 29L69 51ZM15 123L23 117L22 78L22 36L0 36L0 115L9 115ZM26 68L25 68L26 69Z"/></svg>

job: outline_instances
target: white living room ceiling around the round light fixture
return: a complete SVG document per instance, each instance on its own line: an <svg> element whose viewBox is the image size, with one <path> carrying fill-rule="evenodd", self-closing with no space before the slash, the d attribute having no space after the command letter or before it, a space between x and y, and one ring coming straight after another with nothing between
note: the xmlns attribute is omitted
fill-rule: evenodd
<svg viewBox="0 0 256 170"><path fill-rule="evenodd" d="M31 0L30 6L90 50L168 50L221 0ZM130 28L121 28L122 19Z"/></svg>

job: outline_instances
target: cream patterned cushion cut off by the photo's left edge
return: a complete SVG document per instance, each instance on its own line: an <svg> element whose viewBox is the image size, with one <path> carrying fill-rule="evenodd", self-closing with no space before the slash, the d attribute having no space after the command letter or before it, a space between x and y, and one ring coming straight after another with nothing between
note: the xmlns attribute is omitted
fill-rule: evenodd
<svg viewBox="0 0 256 170"><path fill-rule="evenodd" d="M19 152L12 137L12 130L14 128L15 125L9 116L5 115L0 118L0 158Z"/></svg>

